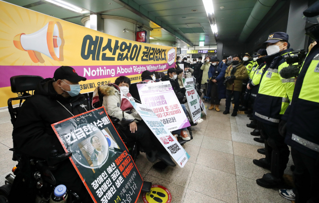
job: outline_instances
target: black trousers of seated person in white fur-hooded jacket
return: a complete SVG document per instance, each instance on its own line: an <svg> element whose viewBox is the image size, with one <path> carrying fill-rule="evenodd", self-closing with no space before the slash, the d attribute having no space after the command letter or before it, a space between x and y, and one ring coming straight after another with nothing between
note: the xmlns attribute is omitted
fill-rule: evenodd
<svg viewBox="0 0 319 203"><path fill-rule="evenodd" d="M166 151L158 138L153 134L151 129L143 120L137 122L136 124L138 126L138 130L134 133L131 132L130 126L124 130L128 142L137 140L145 152L151 152L152 149L157 149L162 152Z"/></svg>

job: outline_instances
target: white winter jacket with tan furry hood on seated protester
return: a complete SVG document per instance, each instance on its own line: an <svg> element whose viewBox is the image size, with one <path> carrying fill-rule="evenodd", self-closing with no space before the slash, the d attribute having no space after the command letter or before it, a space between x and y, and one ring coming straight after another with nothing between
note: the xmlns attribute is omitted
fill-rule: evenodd
<svg viewBox="0 0 319 203"><path fill-rule="evenodd" d="M103 106L105 110L110 116L116 117L120 120L123 118L123 111L121 109L121 92L115 89L113 86L103 85L100 86L100 92L104 96L103 97ZM126 119L132 119L136 122L142 120L141 116L138 112L132 108L130 110L132 113L129 114L128 112L124 111L124 117Z"/></svg>

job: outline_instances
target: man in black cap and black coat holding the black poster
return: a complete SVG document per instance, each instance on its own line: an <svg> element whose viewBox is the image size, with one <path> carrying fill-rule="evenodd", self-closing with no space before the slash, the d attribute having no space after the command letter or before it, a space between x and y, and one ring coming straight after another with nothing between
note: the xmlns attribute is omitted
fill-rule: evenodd
<svg viewBox="0 0 319 203"><path fill-rule="evenodd" d="M72 67L61 66L54 72L53 79L47 78L38 84L34 95L22 104L12 132L13 142L22 154L47 160L52 150L65 153L51 124L89 109L86 98L79 94L79 82L85 80ZM82 202L93 203L70 160L61 162L58 169L51 172L56 185L63 184L76 192ZM31 202L25 198L21 202Z"/></svg>

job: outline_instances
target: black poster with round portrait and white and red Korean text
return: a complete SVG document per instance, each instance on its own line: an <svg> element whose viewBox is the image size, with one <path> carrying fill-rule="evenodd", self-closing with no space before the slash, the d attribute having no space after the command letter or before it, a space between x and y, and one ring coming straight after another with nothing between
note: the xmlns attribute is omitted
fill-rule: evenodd
<svg viewBox="0 0 319 203"><path fill-rule="evenodd" d="M143 180L105 108L52 124L95 203L138 199Z"/></svg>

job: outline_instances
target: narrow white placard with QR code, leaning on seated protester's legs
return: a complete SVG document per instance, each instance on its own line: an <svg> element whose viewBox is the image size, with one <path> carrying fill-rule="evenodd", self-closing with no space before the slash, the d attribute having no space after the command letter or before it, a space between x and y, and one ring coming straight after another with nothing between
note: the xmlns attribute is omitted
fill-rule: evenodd
<svg viewBox="0 0 319 203"><path fill-rule="evenodd" d="M144 104L136 102L131 103L154 135L160 140L160 143L165 147L170 156L173 157L181 168L183 168L190 157L184 148L176 141L174 136L168 131L151 108Z"/></svg>

